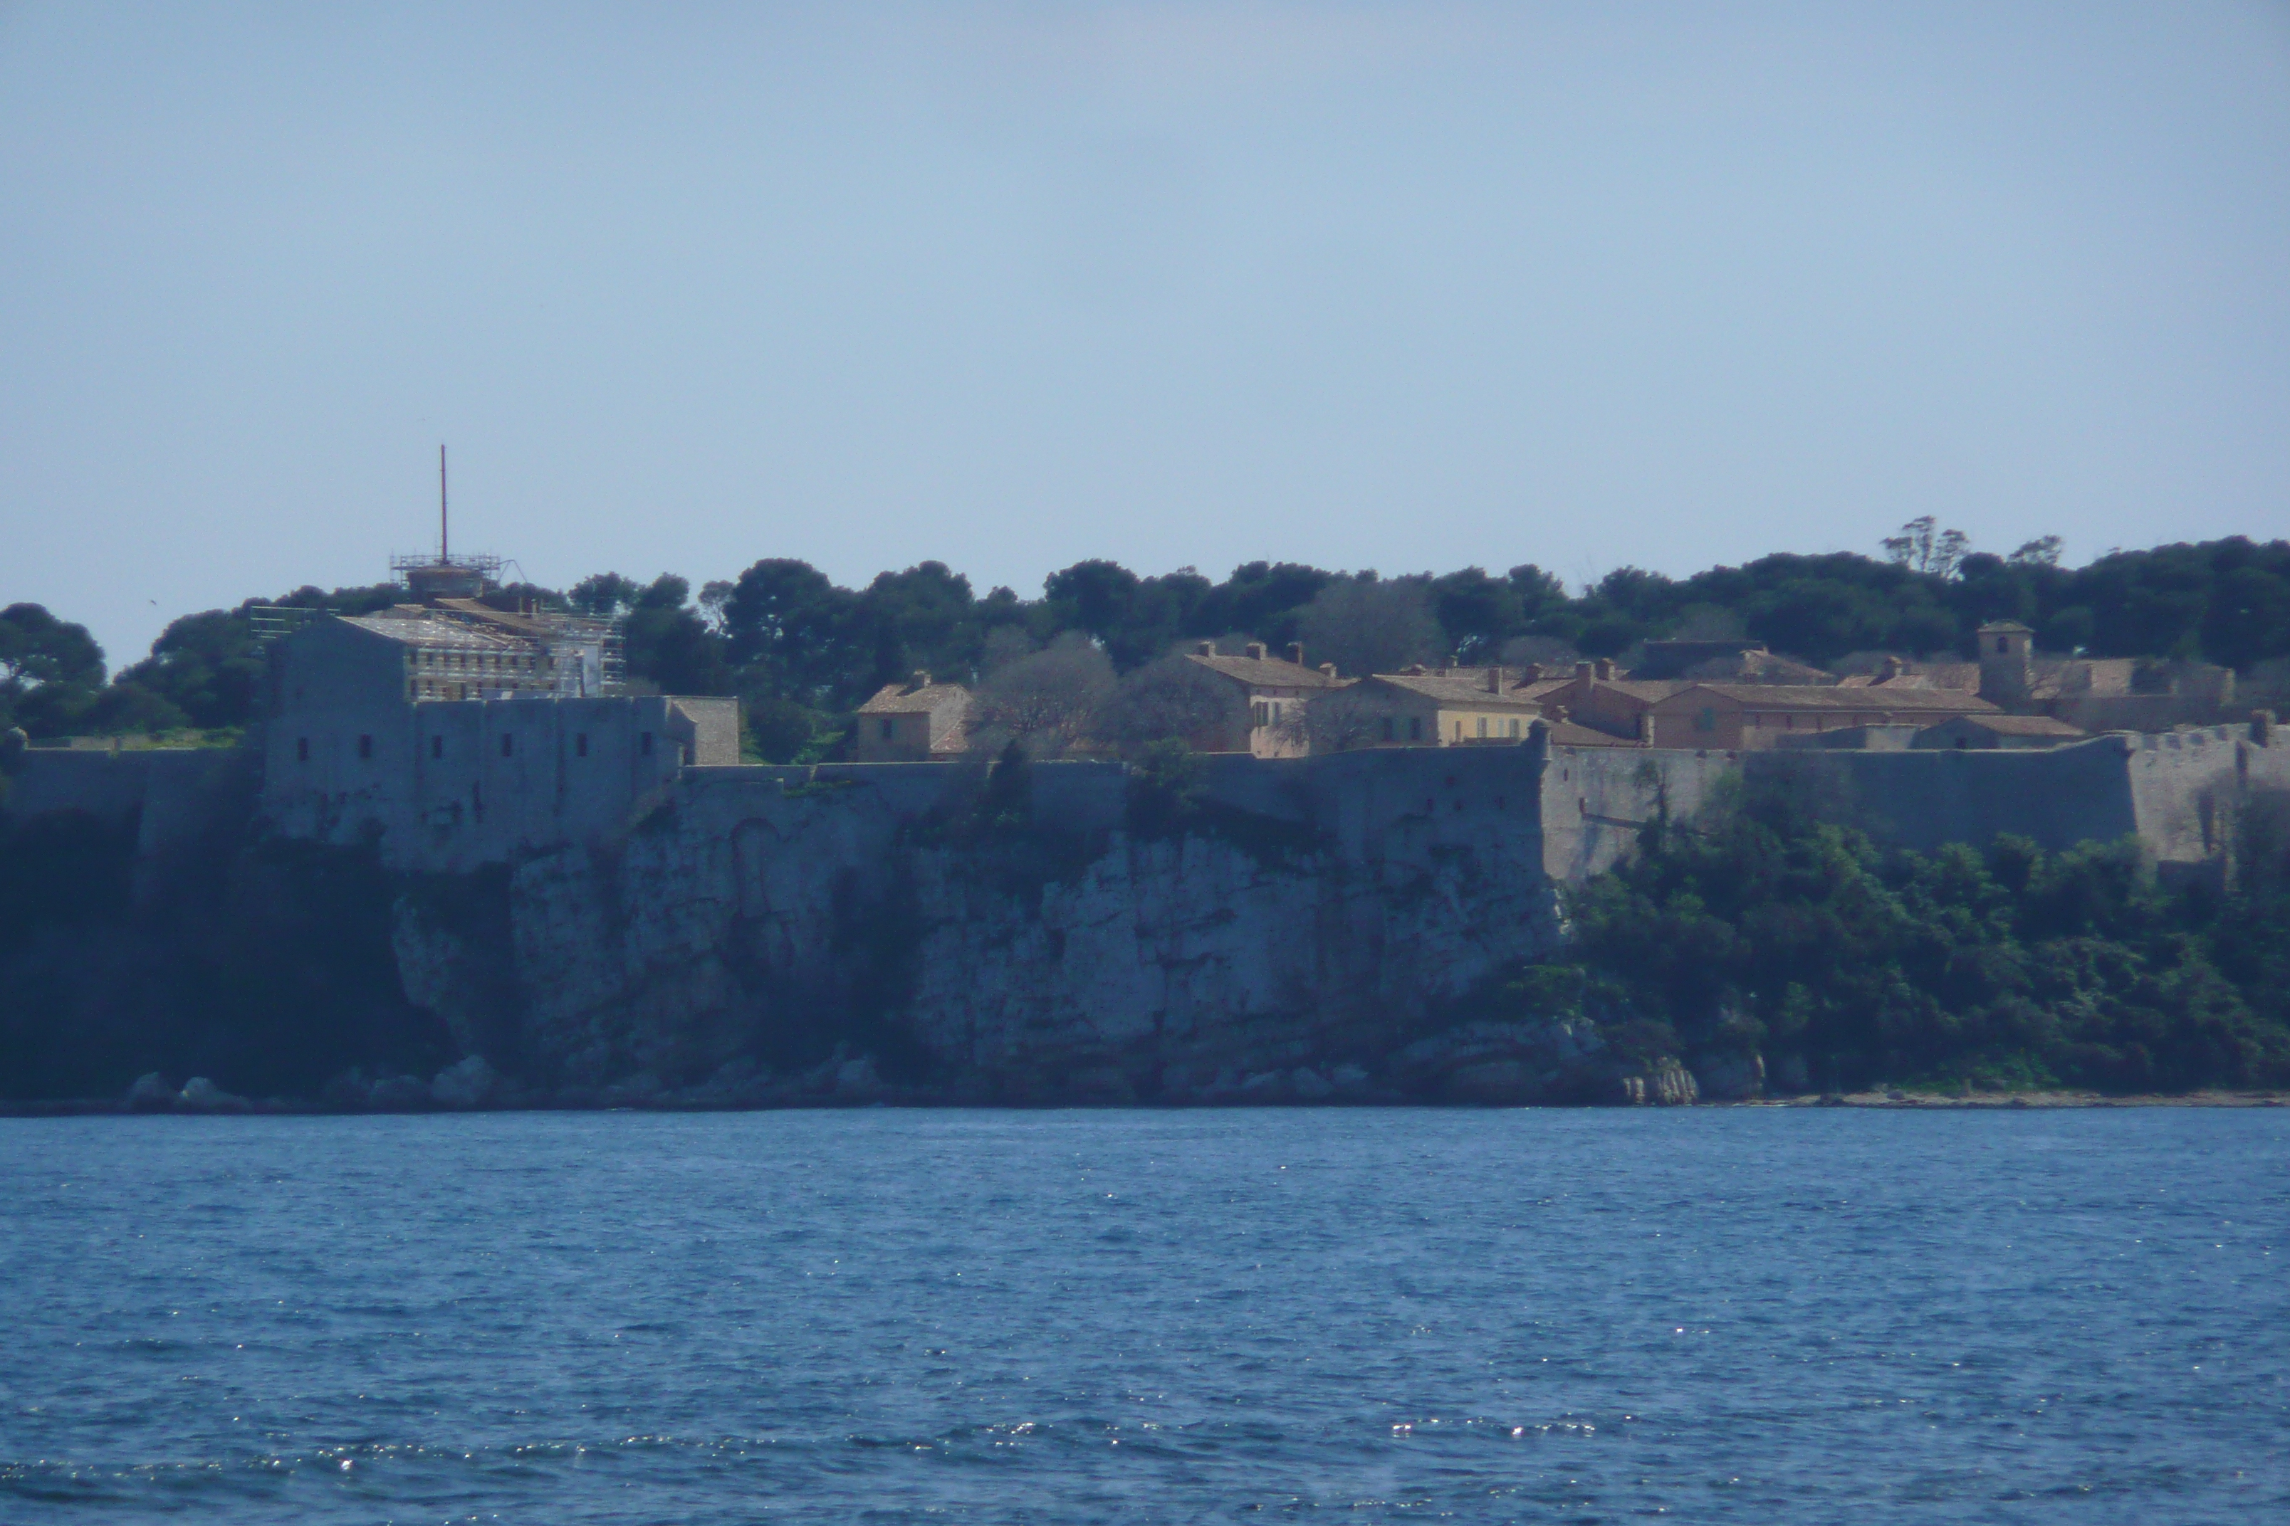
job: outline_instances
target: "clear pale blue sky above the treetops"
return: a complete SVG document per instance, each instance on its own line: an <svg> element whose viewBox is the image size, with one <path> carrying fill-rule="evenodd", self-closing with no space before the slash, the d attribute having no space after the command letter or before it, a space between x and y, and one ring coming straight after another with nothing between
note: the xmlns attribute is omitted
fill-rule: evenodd
<svg viewBox="0 0 2290 1526"><path fill-rule="evenodd" d="M2290 7L0 7L0 602L2290 533Z"/></svg>

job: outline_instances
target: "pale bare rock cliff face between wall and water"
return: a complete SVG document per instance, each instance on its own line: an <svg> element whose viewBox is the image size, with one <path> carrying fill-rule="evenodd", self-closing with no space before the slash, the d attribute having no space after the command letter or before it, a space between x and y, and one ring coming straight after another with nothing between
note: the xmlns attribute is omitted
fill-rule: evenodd
<svg viewBox="0 0 2290 1526"><path fill-rule="evenodd" d="M978 1100L1266 1075L1374 1091L1427 1014L1557 936L1532 819L1351 856L1214 833L948 844L870 789L694 792L614 844L527 858L506 899L508 947L485 949L401 906L408 995L476 1050L504 1016L460 1011L472 965L508 961L518 1052L497 1059L570 1087L834 1048Z"/></svg>

